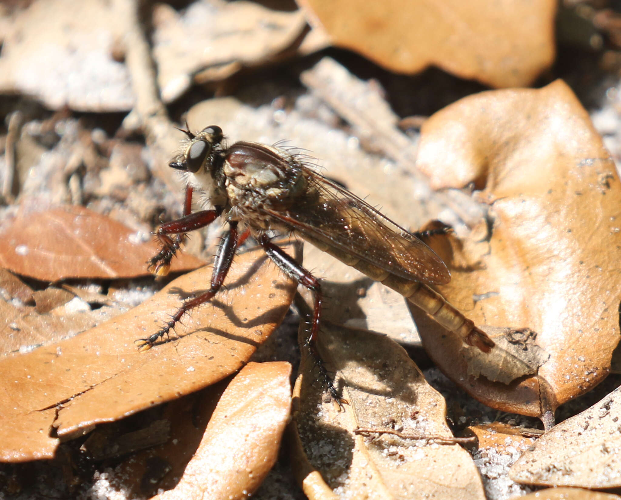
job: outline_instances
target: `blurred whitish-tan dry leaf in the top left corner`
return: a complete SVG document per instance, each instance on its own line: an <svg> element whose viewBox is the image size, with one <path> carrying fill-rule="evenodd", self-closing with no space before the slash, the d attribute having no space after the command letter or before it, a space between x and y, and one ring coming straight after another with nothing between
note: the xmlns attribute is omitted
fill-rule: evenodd
<svg viewBox="0 0 621 500"><path fill-rule="evenodd" d="M32 2L3 40L0 91L36 96L52 109L132 109L129 72L112 57L127 29L115 6L105 0Z"/></svg>

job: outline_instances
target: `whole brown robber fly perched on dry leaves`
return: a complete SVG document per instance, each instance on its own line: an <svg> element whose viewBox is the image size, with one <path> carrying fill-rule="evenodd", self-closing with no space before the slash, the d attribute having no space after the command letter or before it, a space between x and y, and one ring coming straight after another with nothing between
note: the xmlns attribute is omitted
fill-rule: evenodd
<svg viewBox="0 0 621 500"><path fill-rule="evenodd" d="M482 330L427 286L448 283L451 278L431 248L355 194L312 170L301 155L256 142L240 141L227 147L222 129L216 125L197 133L189 128L182 131L188 139L170 166L181 171L186 181L184 216L157 230L162 248L150 260L150 270L156 275L168 273L187 232L205 227L220 216L229 230L215 256L209 291L183 302L158 332L137 340L140 350L151 348L184 314L215 296L238 245L252 235L286 275L313 292L314 311L306 345L319 362L320 282L271 241L268 232L273 230L299 234L320 250L395 289L468 345L484 352L494 347ZM200 194L201 205L212 208L192 213L194 191ZM321 363L320 368L330 393L338 400Z"/></svg>

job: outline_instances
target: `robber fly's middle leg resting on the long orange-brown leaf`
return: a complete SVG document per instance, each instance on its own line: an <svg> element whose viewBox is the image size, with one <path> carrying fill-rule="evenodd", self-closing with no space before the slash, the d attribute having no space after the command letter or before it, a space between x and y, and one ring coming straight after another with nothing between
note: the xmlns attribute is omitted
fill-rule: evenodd
<svg viewBox="0 0 621 500"><path fill-rule="evenodd" d="M237 250L238 234L237 234L237 222L229 222L229 232L222 239L218 252L215 254L214 271L211 275L211 288L205 293L200 294L196 298L189 299L183 302L183 305L177 309L177 312L171 316L164 326L153 335L150 335L146 339L138 339L135 343L138 345L138 350L147 351L153 347L153 344L157 342L164 335L169 335L170 330L175 329L175 325L181 320L186 312L191 311L194 307L198 307L201 304L214 298L218 293L222 283L224 283L227 273L233 257L235 257L235 250Z"/></svg>

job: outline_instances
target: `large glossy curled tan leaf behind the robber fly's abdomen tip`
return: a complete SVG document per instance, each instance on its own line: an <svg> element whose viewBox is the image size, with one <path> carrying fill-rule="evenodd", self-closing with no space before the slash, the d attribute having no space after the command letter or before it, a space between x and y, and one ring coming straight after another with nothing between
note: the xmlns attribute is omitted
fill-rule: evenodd
<svg viewBox="0 0 621 500"><path fill-rule="evenodd" d="M519 329L505 340L541 365L508 385L477 377L472 349L412 309L438 366L479 401L530 416L602 381L619 342L621 186L568 86L456 102L425 123L419 166L436 188L474 183L491 219L430 243L452 273L438 290L478 325Z"/></svg>

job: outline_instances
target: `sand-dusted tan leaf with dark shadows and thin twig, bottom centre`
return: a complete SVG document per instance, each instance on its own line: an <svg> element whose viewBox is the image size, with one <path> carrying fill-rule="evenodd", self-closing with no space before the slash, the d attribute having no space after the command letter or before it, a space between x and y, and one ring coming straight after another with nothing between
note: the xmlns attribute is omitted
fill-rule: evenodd
<svg viewBox="0 0 621 500"><path fill-rule="evenodd" d="M309 498L485 498L472 458L446 425L444 399L403 348L322 322L319 350L349 404L338 411L322 402L316 363L302 360L291 434L294 473Z"/></svg>

